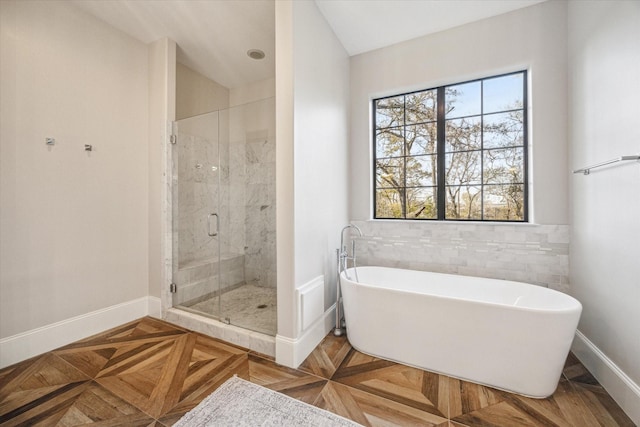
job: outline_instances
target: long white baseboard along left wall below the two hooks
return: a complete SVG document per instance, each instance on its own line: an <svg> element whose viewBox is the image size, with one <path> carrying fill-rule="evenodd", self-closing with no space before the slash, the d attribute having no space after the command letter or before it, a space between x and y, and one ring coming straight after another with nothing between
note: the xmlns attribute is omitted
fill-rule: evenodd
<svg viewBox="0 0 640 427"><path fill-rule="evenodd" d="M0 368L160 311L159 298L142 297L0 339Z"/></svg>

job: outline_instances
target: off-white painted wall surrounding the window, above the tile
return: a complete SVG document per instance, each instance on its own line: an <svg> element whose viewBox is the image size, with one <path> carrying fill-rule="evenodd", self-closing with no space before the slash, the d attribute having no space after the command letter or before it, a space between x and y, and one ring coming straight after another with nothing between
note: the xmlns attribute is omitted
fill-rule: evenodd
<svg viewBox="0 0 640 427"><path fill-rule="evenodd" d="M529 69L530 220L568 223L566 3L549 1L351 59L350 215L372 217L371 99Z"/></svg>

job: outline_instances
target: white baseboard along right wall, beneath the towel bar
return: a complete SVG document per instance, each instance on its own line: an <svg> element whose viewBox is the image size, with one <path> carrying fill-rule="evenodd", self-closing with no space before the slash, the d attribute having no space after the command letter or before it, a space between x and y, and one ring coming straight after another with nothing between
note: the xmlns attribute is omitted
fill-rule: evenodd
<svg viewBox="0 0 640 427"><path fill-rule="evenodd" d="M576 331L571 350L629 418L640 425L640 386L580 331Z"/></svg>

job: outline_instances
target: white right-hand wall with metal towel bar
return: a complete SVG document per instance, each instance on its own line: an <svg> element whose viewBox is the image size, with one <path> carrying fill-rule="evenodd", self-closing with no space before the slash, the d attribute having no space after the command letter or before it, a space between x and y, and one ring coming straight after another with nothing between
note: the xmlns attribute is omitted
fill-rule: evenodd
<svg viewBox="0 0 640 427"><path fill-rule="evenodd" d="M640 3L572 1L568 33L572 169L640 154ZM593 353L578 357L640 424L640 163L573 175L571 193L578 329L635 383L635 395Z"/></svg>

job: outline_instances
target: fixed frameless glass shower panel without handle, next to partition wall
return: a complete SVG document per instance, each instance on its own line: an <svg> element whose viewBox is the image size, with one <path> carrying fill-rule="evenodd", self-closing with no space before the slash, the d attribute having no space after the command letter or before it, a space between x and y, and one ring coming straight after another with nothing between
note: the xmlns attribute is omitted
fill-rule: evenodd
<svg viewBox="0 0 640 427"><path fill-rule="evenodd" d="M276 334L275 99L220 111L221 313Z"/></svg>

